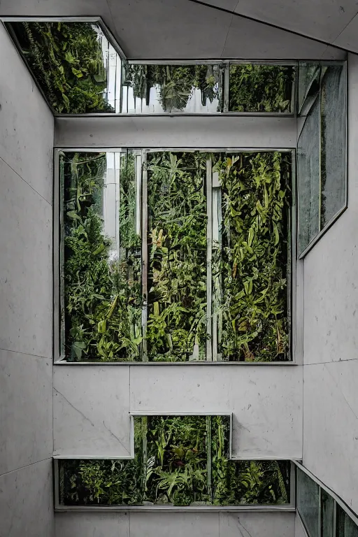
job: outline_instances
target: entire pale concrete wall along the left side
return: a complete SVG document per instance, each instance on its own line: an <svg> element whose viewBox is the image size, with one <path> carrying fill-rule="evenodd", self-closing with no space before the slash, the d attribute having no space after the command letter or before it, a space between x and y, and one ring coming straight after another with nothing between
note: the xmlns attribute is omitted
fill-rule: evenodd
<svg viewBox="0 0 358 537"><path fill-rule="evenodd" d="M0 26L0 536L50 537L53 118Z"/></svg>

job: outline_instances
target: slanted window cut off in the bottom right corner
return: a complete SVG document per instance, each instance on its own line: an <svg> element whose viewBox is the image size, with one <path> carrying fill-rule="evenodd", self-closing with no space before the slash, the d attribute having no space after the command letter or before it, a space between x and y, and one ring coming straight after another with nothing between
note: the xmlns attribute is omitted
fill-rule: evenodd
<svg viewBox="0 0 358 537"><path fill-rule="evenodd" d="M296 468L297 510L308 537L357 537L357 520L310 476Z"/></svg>

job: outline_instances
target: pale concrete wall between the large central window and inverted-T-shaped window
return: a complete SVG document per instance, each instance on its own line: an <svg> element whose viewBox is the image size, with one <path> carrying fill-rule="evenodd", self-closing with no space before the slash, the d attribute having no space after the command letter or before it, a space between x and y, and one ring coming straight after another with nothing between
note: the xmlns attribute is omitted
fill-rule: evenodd
<svg viewBox="0 0 358 537"><path fill-rule="evenodd" d="M129 411L234 413L233 457L302 457L301 366L55 366L55 454L128 455Z"/></svg>

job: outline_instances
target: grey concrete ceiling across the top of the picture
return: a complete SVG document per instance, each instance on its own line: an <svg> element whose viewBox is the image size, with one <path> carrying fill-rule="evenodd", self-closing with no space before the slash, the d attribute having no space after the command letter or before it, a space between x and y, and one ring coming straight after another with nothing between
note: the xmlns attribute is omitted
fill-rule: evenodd
<svg viewBox="0 0 358 537"><path fill-rule="evenodd" d="M193 0L0 0L0 17L100 15L127 57L136 59L340 59L344 57L344 52L327 45L328 41L332 41L331 36L336 38L332 6L336 6L337 1L271 0L268 10L268 0L210 0L210 3L227 9L225 11ZM324 10L324 2L331 10ZM354 11L352 4L356 5L358 0L341 0L341 3L344 12L340 15L338 10L336 18L341 17L340 24L348 24ZM259 10L259 4L266 5L266 10L263 7ZM315 9L309 8L311 4ZM244 15L253 18L259 18L259 15L264 17L266 11L270 13L270 20L266 22L275 24L278 24L276 19L279 15L283 20L285 13L290 22L293 20L296 24L299 20L304 28L305 17L296 15L301 13L297 5L301 6L307 20L310 20L307 26L309 31L303 33L308 35L313 31L313 15L318 17L320 13L322 17L324 13L324 17L330 21L326 34L330 36L329 39L322 37L322 20L317 24L316 35L321 41L316 41L229 11L237 11L241 6ZM287 6L291 6L292 10ZM331 15L328 16L328 12ZM345 31L348 30L349 26ZM354 28L349 35L349 41L353 43ZM343 34L340 39L339 46L345 48L342 44L345 42Z"/></svg>

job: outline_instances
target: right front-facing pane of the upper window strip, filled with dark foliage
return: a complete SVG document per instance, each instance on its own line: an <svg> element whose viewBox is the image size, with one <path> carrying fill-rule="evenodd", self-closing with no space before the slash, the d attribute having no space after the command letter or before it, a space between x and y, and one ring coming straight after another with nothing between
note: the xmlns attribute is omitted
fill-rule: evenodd
<svg viewBox="0 0 358 537"><path fill-rule="evenodd" d="M230 112L293 111L294 66L231 65Z"/></svg>

